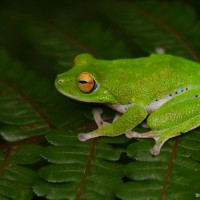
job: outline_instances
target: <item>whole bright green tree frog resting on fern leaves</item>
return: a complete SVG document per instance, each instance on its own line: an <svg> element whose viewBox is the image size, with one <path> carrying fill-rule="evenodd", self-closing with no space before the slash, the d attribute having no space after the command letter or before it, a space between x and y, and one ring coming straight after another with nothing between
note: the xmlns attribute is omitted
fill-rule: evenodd
<svg viewBox="0 0 200 200"><path fill-rule="evenodd" d="M69 98L108 105L116 110L112 123L93 115L99 128L79 134L81 141L98 136L153 138L158 155L170 138L200 126L200 64L167 54L135 59L98 60L80 54L74 67L57 76L59 92ZM150 131L132 129L147 120Z"/></svg>

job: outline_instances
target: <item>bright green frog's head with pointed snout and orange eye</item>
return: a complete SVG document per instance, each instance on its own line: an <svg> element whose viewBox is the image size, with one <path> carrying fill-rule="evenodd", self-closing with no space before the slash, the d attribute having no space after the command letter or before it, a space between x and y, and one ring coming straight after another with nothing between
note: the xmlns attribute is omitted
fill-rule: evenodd
<svg viewBox="0 0 200 200"><path fill-rule="evenodd" d="M74 59L74 67L59 74L55 86L59 92L78 101L117 103L95 67L96 59L90 54L80 54Z"/></svg>

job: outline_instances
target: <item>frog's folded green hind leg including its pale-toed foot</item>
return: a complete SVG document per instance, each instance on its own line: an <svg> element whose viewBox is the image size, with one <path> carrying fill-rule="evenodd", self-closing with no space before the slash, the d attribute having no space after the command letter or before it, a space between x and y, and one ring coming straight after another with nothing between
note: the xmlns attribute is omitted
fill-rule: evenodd
<svg viewBox="0 0 200 200"><path fill-rule="evenodd" d="M147 124L152 129L146 133L127 131L128 138L153 138L156 142L151 149L152 155L158 155L163 144L170 138L186 133L200 126L200 98L198 95L171 101L162 109L152 113Z"/></svg>

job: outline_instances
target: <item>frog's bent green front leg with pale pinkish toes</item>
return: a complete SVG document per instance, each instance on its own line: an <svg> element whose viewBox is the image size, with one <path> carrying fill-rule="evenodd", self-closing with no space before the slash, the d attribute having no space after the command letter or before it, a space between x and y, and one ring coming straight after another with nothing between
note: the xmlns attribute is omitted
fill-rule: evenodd
<svg viewBox="0 0 200 200"><path fill-rule="evenodd" d="M122 116L117 116L116 118L114 118L115 121L112 124L105 124L104 122L102 122L100 112L95 112L96 116L94 116L94 118L99 128L90 133L79 134L79 140L85 141L99 136L114 137L124 134L126 131L130 131L135 126L140 124L147 116L146 109L143 106L137 104L133 104L132 106L130 106ZM101 126L102 123L103 126Z"/></svg>

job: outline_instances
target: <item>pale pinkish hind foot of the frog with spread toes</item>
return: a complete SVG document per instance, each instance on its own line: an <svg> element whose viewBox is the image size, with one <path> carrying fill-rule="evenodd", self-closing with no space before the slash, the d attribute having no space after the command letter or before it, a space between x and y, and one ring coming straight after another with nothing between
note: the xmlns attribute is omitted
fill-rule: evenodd
<svg viewBox="0 0 200 200"><path fill-rule="evenodd" d="M159 133L159 132L158 132ZM155 140L156 144L154 147L150 150L150 153L154 156L157 156L160 153L160 149L163 146L163 144L171 137L161 137L161 134L158 134L154 131L149 131L146 133L137 133L132 131L127 131L125 135L128 138L152 138Z"/></svg>

